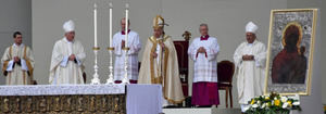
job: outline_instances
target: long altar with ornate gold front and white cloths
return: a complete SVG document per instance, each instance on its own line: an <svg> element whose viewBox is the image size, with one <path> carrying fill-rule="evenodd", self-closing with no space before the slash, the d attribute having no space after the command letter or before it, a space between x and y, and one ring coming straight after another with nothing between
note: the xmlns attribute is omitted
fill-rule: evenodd
<svg viewBox="0 0 326 114"><path fill-rule="evenodd" d="M160 85L0 86L0 114L158 114L162 112L161 88Z"/></svg>

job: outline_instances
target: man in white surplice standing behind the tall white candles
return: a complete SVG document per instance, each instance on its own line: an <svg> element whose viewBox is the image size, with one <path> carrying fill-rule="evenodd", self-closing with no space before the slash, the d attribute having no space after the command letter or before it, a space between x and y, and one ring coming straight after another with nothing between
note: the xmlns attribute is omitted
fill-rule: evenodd
<svg viewBox="0 0 326 114"><path fill-rule="evenodd" d="M128 26L130 25L128 21ZM114 47L114 54L115 54L115 63L114 63L114 79L115 83L121 83L125 74L125 50L128 50L128 79L130 79L131 84L137 84L138 79L138 52L141 49L141 43L139 40L139 35L134 30L128 30L128 46L125 46L125 26L126 20L121 20L121 27L122 31L116 33L113 36L113 47ZM129 27L128 27L129 28Z"/></svg>

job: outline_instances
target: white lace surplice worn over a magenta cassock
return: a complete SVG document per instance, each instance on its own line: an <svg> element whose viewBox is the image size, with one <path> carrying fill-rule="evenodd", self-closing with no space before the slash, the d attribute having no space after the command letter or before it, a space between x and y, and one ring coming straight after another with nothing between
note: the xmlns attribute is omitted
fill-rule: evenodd
<svg viewBox="0 0 326 114"><path fill-rule="evenodd" d="M197 53L197 50L203 47L206 53ZM216 56L220 51L217 38L209 37L208 40L193 39L188 49L188 54L195 62L193 83L210 81L217 83L217 63Z"/></svg>

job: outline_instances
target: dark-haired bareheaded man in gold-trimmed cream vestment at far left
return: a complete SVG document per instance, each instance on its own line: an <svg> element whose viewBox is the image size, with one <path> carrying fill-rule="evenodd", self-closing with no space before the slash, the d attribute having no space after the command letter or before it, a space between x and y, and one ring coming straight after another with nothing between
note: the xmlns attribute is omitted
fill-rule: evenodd
<svg viewBox="0 0 326 114"><path fill-rule="evenodd" d="M23 43L22 33L13 34L14 43L5 49L1 59L7 85L32 85L34 56L32 49Z"/></svg>

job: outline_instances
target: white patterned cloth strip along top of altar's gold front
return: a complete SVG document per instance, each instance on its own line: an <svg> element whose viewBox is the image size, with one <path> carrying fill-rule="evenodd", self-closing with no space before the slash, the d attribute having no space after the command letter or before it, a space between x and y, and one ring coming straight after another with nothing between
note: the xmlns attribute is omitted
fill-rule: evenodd
<svg viewBox="0 0 326 114"><path fill-rule="evenodd" d="M122 94L125 85L0 86L0 96Z"/></svg>

